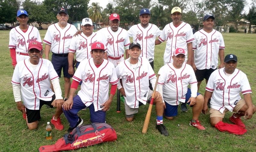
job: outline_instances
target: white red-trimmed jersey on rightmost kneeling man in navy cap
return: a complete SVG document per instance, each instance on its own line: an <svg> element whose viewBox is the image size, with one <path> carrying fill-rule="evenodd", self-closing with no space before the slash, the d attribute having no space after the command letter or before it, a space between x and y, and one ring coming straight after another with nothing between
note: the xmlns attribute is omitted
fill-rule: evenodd
<svg viewBox="0 0 256 152"><path fill-rule="evenodd" d="M205 90L212 92L211 108L221 113L227 108L233 111L242 94L252 93L246 74L235 69L233 74L226 76L225 68L212 72Z"/></svg>

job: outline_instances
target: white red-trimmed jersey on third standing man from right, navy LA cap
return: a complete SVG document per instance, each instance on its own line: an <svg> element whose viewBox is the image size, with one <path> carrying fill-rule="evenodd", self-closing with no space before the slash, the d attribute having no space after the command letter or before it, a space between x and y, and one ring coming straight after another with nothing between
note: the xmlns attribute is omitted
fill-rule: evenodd
<svg viewBox="0 0 256 152"><path fill-rule="evenodd" d="M137 42L141 46L140 56L148 59L149 62L154 60L155 41L162 31L159 28L149 23L148 27L144 28L140 24L133 25L128 31L133 42Z"/></svg>

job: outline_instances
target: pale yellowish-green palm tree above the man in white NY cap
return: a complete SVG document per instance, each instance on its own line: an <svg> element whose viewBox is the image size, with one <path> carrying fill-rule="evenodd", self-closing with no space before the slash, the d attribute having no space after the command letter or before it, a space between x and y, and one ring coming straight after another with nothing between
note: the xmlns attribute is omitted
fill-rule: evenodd
<svg viewBox="0 0 256 152"><path fill-rule="evenodd" d="M102 20L102 17L101 17L101 10L103 8L99 5L99 3L92 3L91 6L89 6L88 8L88 14L89 14L89 17L92 19L93 22L97 22L99 21L100 22L100 19Z"/></svg>

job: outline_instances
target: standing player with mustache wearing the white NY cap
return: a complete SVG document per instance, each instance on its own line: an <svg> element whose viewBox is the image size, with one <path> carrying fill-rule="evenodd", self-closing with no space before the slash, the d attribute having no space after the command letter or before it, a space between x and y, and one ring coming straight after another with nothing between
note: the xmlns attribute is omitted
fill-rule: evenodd
<svg viewBox="0 0 256 152"><path fill-rule="evenodd" d="M83 32L73 37L69 46L68 53L68 73L74 74L73 60L76 53L76 68L84 59L91 58L91 46L97 41L97 34L92 32L93 25L91 18L84 18L81 26Z"/></svg>

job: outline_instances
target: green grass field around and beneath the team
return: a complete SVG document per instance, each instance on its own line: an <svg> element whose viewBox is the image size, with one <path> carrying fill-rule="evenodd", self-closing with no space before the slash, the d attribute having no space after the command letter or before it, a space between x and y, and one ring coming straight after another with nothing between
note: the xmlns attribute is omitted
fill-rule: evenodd
<svg viewBox="0 0 256 152"><path fill-rule="evenodd" d="M43 40L46 30L40 30ZM256 35L255 34L236 34L224 33L225 55L229 53L236 54L238 57L237 68L247 74L252 88L252 100L256 105L256 78L255 78L255 61L256 61ZM52 129L52 140L45 140L45 127L47 121L50 121L54 114L54 109L47 109L45 106L41 109L41 120L36 130L30 131L26 125L22 114L17 110L12 93L12 60L8 49L9 31L0 31L0 151L38 151L42 145L54 144L59 138L66 134L68 129L68 121L61 115L63 131ZM165 42L156 46L155 49L155 72L163 65ZM63 86L63 78L60 78L61 86ZM204 94L205 83L201 84L199 90ZM62 91L64 93L64 91ZM154 106L155 107L155 106ZM153 107L153 108L154 108ZM249 152L256 151L256 118L255 115L251 120L244 121L247 133L244 135L234 135L226 132L220 132L211 127L209 115L201 114L199 120L206 128L200 131L189 126L189 120L192 117L192 108L188 107L188 112L180 112L174 120L164 119L164 125L169 131L169 136L164 137L156 129L156 112L152 111L151 119L148 127L148 133L142 134L142 126L148 110L148 105L141 106L139 113L132 122L127 122L124 118L124 105L121 103L121 113L116 113L116 97L107 112L107 123L109 123L117 133L115 142L101 143L88 148L75 150L81 151L201 151L201 152ZM228 112L224 118L224 122L229 121L232 112ZM90 123L89 110L80 111L79 116L84 119L83 124ZM179 124L179 126L178 126ZM53 125L52 125L53 127Z"/></svg>

